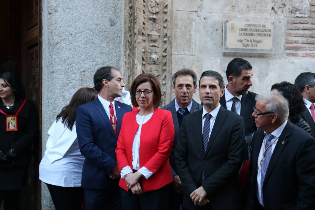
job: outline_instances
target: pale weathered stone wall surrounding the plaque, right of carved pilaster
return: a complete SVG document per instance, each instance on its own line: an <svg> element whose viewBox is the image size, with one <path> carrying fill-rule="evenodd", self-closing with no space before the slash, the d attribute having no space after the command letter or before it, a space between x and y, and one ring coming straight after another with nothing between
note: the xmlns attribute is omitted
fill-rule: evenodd
<svg viewBox="0 0 315 210"><path fill-rule="evenodd" d="M312 58L315 56L314 5L314 0L174 0L173 73L188 67L200 77L203 71L214 70L227 82L227 64L241 57L253 66L251 91L266 93L274 83L293 83L301 72L315 72L315 59ZM275 52L224 53L223 18L233 17L273 20ZM290 33L302 33L303 36ZM198 92L194 99L200 101Z"/></svg>

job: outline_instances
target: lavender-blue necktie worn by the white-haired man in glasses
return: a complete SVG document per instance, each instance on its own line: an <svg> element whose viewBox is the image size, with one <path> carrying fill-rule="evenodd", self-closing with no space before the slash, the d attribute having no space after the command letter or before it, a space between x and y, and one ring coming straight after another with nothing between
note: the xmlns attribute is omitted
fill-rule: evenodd
<svg viewBox="0 0 315 210"><path fill-rule="evenodd" d="M264 150L266 150L266 148L268 148L268 146L271 144L271 140L274 136L270 133L266 133L266 141L265 141L265 148ZM261 203L262 206L264 206L264 198L262 195L262 189L263 189L263 184L264 184L264 180L265 180L265 176L266 176L266 172L267 172L267 168L268 168L268 164L271 158L271 148L272 146L270 146L267 151L265 151L265 157L262 161L262 165L261 165L261 177L260 177L260 191L261 191Z"/></svg>

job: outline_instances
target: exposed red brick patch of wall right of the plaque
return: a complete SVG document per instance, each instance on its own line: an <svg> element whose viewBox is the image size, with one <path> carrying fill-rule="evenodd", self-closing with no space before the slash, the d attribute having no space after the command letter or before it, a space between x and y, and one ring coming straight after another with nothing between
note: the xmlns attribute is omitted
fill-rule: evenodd
<svg viewBox="0 0 315 210"><path fill-rule="evenodd" d="M287 19L284 51L287 56L315 57L315 0L310 1L309 17Z"/></svg>

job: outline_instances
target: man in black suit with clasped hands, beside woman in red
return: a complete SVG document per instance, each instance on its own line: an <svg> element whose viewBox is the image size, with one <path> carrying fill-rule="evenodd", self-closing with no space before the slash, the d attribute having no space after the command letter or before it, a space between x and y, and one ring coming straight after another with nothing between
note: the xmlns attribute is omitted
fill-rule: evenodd
<svg viewBox="0 0 315 210"><path fill-rule="evenodd" d="M203 72L199 80L203 109L183 118L175 150L185 191L183 209L240 209L244 120L220 105L223 94L222 76Z"/></svg>

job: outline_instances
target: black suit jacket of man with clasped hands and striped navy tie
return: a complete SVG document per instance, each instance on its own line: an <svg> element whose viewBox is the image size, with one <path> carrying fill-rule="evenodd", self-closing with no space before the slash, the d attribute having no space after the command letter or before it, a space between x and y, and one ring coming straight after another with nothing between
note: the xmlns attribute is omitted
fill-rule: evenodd
<svg viewBox="0 0 315 210"><path fill-rule="evenodd" d="M183 207L197 208L189 195L202 185L213 209L239 209L238 170L243 160L244 120L221 106L204 154L202 113L200 110L183 118L175 150L177 172L185 190Z"/></svg>

